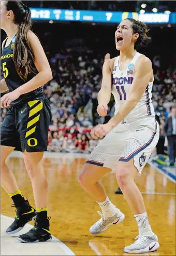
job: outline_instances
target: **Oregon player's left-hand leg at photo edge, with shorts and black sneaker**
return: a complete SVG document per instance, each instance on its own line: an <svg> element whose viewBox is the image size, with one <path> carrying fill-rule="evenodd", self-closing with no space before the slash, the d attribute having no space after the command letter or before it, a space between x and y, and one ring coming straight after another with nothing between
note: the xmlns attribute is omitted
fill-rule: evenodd
<svg viewBox="0 0 176 256"><path fill-rule="evenodd" d="M6 230L7 234L19 232L36 215L35 210L24 199L12 171L5 163L7 156L15 148L21 151L20 138L14 125L12 110L10 109L1 125L1 185L13 200L14 205L12 206L16 207L17 212L13 223Z"/></svg>

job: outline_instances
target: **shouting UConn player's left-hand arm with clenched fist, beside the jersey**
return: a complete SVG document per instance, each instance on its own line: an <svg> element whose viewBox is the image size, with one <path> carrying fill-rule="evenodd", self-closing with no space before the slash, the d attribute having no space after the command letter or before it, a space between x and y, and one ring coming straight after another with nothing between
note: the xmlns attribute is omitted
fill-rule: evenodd
<svg viewBox="0 0 176 256"><path fill-rule="evenodd" d="M102 67L102 83L101 83L101 89L98 92L98 107L97 107L97 112L100 116L107 115L108 103L111 98L112 74L110 69L110 63L111 63L111 60L105 58L104 65Z"/></svg>

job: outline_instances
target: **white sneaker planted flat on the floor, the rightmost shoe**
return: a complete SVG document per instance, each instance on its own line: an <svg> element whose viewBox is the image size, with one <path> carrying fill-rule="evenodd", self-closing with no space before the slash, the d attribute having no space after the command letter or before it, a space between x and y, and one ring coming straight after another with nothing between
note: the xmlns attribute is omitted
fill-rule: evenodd
<svg viewBox="0 0 176 256"><path fill-rule="evenodd" d="M156 251L159 248L157 235L153 236L137 236L135 239L137 241L130 246L124 248L125 252L128 253L145 253Z"/></svg>

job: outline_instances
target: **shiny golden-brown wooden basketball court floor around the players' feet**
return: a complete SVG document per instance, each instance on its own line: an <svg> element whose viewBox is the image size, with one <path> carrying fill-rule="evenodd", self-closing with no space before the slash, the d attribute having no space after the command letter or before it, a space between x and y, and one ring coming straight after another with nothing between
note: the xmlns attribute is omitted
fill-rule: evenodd
<svg viewBox="0 0 176 256"><path fill-rule="evenodd" d="M34 206L32 186L23 158L21 154L18 156L17 152L12 156L7 159L7 164L14 172L23 195L28 196L28 200ZM111 226L100 235L94 236L89 233L90 226L99 219L97 210L100 208L78 183L78 174L85 159L84 155L60 153L47 153L43 159L50 190L48 208L51 216L51 233L75 255L130 255L124 253L123 248L134 242L138 229L123 195L114 194L118 186L114 174L103 177L101 182L105 185L112 203L125 214L125 221ZM136 182L143 193L150 224L160 244L158 251L143 255L175 255L175 184L149 164L145 166ZM12 201L3 188L1 192L1 214L13 218L15 212L14 208L10 207ZM5 228L2 225L3 232ZM16 243L18 244L18 241ZM13 247L11 250L14 253L16 248ZM27 253L26 255L32 255ZM36 253L38 254L37 251Z"/></svg>

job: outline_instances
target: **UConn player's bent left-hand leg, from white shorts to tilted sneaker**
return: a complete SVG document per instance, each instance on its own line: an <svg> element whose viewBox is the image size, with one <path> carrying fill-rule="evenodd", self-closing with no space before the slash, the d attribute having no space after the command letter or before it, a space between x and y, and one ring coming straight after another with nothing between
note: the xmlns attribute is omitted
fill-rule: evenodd
<svg viewBox="0 0 176 256"><path fill-rule="evenodd" d="M113 138L114 136L113 134ZM99 179L112 169L111 164L107 163L109 155L106 152L108 149L107 143L108 141L111 143L112 140L114 141L112 133L110 133L98 144L95 151L87 159L79 176L81 186L97 201L102 210L102 214L98 212L101 219L90 228L92 234L104 232L110 225L119 224L125 218L124 214L111 203L105 188L99 182Z"/></svg>

